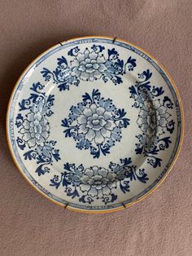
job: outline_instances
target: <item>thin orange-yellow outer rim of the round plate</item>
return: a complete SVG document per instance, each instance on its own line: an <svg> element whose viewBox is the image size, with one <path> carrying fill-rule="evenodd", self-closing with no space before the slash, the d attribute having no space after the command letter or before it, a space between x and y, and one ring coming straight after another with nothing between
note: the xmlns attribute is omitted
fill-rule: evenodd
<svg viewBox="0 0 192 256"><path fill-rule="evenodd" d="M24 73L26 73L26 71L28 70L28 68L30 68L30 66L33 66L33 64L41 59L41 57L43 55L46 54L46 52L49 52L51 51L52 49L56 48L56 46L59 46L59 45L63 45L65 44L66 42L71 42L71 41L76 41L76 40L82 40L82 39L89 39L89 38L104 38L104 39L111 39L113 41L118 41L118 42L124 42L126 44L129 44L130 46L133 46L135 47L136 49L144 52L146 55L148 55L153 61L155 61L155 63L160 67L162 68L162 70L164 71L164 73L166 74L166 76L168 77L168 79L170 80L171 84L172 84L172 87L173 89L175 90L175 93L177 95L177 100L178 100L178 103L179 103L179 107L180 107L180 110L181 110L181 136L180 136L180 140L179 140L179 143L178 143L178 147L177 147L177 152L175 154L175 156L173 157L173 160L172 160L172 163L171 165L168 167L168 170L166 171L166 173L164 174L164 177L162 179L159 180L158 183L155 184L155 186L153 188L151 188L151 190L149 190L148 192L146 192L144 195L142 195L141 197L125 204L125 205L122 205L122 206L119 206L119 207L116 207L116 208L113 208L113 209L108 209L108 210L85 210L85 209L80 209L80 208L76 208L76 207L73 207L73 206L70 206L70 205L64 205L63 203L60 203L59 201L55 201L54 199L50 198L50 196L47 196L44 192L41 192L40 189L38 189L33 183L32 181L30 181L28 179L28 177L24 174L23 170L21 170L18 162L16 161L15 159L15 156L14 156L14 153L13 153L13 148L11 147L11 140L10 140L10 136L9 136L9 113L10 113L10 108L11 108L11 102L12 102L12 99L13 99L13 96L14 96L14 93L15 93L15 89L16 87L19 85L20 83L20 80L21 78L24 76ZM146 196L149 196L151 195L151 193L155 192L155 190L157 188L159 188L160 184L162 184L164 182L164 180L168 177L168 174L170 173L170 171L172 170L172 167L175 165L176 161L177 161L177 157L179 156L180 152L181 152L181 146L182 146L182 143L183 143L183 139L184 139L184 131L185 131L185 116L184 116L184 108L183 108L183 104L182 104L182 101L181 101L181 96L180 96L180 93L179 93L179 90L177 88L177 85L176 83L173 81L170 73L168 73L168 70L167 68L164 67L164 65L160 64L158 60L155 59L155 57L151 54L149 54L146 50L144 50L143 48L139 47L139 46L136 46L134 45L132 42L129 42L127 40L124 40L124 39L120 39L120 38L114 38L114 37L107 37L107 36L84 36L84 37L77 37L77 38L70 38L66 41L63 41L63 42L59 42L57 44L55 44L54 46L51 46L50 48L46 49L46 51L43 51L40 55L37 55L37 57L28 64L28 66L26 68L24 68L24 71L20 74L20 77L18 78L17 82L15 82L15 86L13 87L12 91L11 91L11 96L10 96L10 99L9 99L9 102L8 102L8 105L7 105L7 116L6 116L6 135L7 135L7 144L8 144L8 148L11 152L11 157L15 163L15 166L17 167L17 169L20 171L20 174L22 174L22 176L24 177L24 179L32 186L32 188L34 188L39 194L41 194L41 196L44 196L46 197L49 201L52 201L54 202L56 205L59 205L59 206L63 206L64 209L68 209L68 210L73 210L73 211L76 211L76 212L81 212L81 213L87 213L87 214L105 214L105 213L111 213L111 212L116 212L116 211L119 211L119 210L124 210L124 209L127 209L129 208L130 206L132 205L135 205L137 202L139 201L142 201L143 199L146 198Z"/></svg>

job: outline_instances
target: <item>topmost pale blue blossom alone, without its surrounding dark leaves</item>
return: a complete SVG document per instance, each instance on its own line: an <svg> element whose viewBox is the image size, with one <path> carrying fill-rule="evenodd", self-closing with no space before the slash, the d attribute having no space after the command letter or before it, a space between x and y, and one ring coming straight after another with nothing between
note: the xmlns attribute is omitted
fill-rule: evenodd
<svg viewBox="0 0 192 256"><path fill-rule="evenodd" d="M76 59L71 61L72 77L80 77L83 81L94 81L100 79L104 71L107 70L106 60L103 55L98 55L95 51L79 52Z"/></svg>

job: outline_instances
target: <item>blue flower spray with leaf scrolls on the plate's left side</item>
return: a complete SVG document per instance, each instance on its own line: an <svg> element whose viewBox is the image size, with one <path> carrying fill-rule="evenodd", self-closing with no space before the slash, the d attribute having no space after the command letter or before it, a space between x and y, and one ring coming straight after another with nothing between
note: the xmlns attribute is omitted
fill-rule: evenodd
<svg viewBox="0 0 192 256"><path fill-rule="evenodd" d="M59 149L55 149L56 141L48 140L50 123L48 118L53 114L55 95L46 96L44 86L40 82L33 83L32 93L28 99L19 103L20 113L17 114L15 126L20 136L16 142L24 152L24 160L37 161L36 173L40 176L50 172L48 166L59 161Z"/></svg>

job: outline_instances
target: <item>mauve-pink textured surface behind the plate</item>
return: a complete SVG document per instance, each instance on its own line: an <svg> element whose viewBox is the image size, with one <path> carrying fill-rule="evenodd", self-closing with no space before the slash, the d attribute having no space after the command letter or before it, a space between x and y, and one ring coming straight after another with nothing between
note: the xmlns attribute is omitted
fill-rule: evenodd
<svg viewBox="0 0 192 256"><path fill-rule="evenodd" d="M0 1L0 255L192 255L190 0ZM47 201L7 148L7 102L24 68L57 42L108 35L141 46L181 92L185 139L168 179L144 201L112 214L79 214Z"/></svg>

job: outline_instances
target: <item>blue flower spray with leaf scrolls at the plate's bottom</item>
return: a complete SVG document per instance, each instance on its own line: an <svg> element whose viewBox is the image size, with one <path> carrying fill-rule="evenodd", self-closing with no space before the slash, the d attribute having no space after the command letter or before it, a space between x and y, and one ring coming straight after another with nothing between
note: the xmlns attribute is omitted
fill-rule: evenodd
<svg viewBox="0 0 192 256"><path fill-rule="evenodd" d="M99 166L86 168L81 164L64 164L64 171L50 179L50 186L64 188L67 196L78 198L82 203L91 205L102 200L105 205L116 201L119 190L124 194L130 192L129 183L148 180L144 169L131 165L131 158L120 159L120 164L110 162L108 169Z"/></svg>

